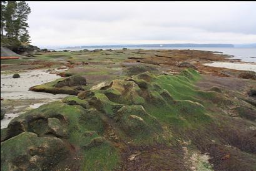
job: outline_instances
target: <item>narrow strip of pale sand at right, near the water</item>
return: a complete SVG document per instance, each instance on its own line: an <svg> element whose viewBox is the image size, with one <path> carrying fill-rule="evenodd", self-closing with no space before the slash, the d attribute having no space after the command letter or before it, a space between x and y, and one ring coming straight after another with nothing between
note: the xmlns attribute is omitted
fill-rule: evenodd
<svg viewBox="0 0 256 171"><path fill-rule="evenodd" d="M213 62L204 64L205 66L212 66L212 67L225 67L228 69L237 69L242 71L254 71L256 72L256 63L242 63L242 62Z"/></svg>

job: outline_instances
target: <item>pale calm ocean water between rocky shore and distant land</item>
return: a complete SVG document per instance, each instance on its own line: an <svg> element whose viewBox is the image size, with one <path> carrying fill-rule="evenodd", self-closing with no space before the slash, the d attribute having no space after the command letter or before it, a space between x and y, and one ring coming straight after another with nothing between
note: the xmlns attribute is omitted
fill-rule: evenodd
<svg viewBox="0 0 256 171"><path fill-rule="evenodd" d="M123 47L106 47L106 48L77 48L67 49L70 51L79 51L83 49L122 49ZM218 51L223 54L233 56L232 59L240 59L243 62L255 62L256 63L256 48L228 48L228 47L129 47L128 49L190 49L190 50L202 50L202 51ZM55 49L56 51L63 51L64 49ZM254 57L254 58L253 58Z"/></svg>

